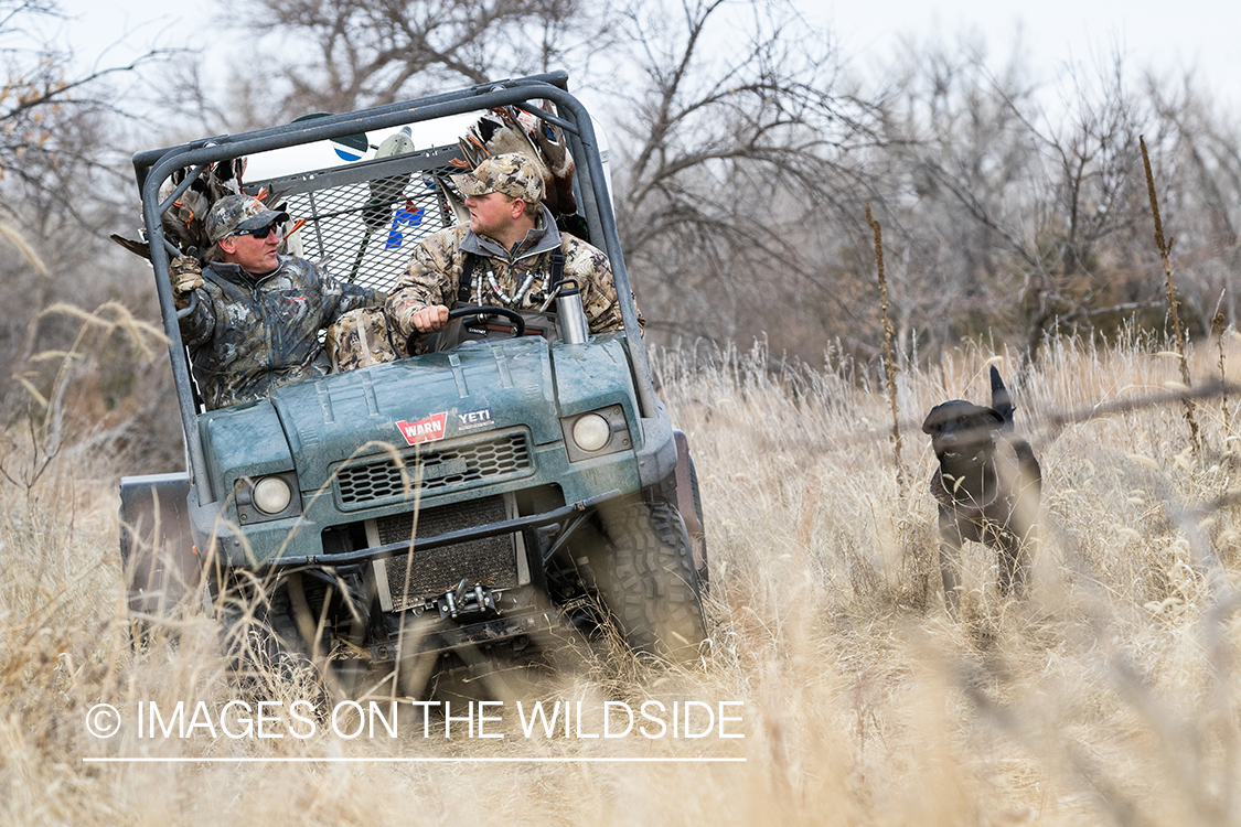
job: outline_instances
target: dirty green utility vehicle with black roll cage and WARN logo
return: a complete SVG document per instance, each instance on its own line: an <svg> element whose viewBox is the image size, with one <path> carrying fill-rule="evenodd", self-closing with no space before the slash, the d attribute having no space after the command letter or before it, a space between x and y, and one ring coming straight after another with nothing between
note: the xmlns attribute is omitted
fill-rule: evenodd
<svg viewBox="0 0 1241 827"><path fill-rule="evenodd" d="M696 481L684 435L652 388L593 126L565 86L563 74L505 81L135 155L189 465L185 474L122 484L122 551L138 616L200 600L218 610L228 584L243 579L273 591L295 580L321 637L300 646L323 652L343 640L352 657L375 663L413 653L397 647L413 616L438 615L418 641L423 653L524 646L536 629L563 624L566 605L592 595L634 604L611 605L629 635L628 626L650 626L666 614L659 593L670 590L676 642L658 645L668 635L650 629L634 629L630 642L696 650L705 636L699 591L706 575ZM180 252L160 221L177 195L168 193L176 170L495 105L534 110L525 102L540 99L555 103L553 123L568 134L581 218L612 262L624 331L572 343L544 336L468 341L205 410L165 275ZM292 218L308 222L308 247L346 250L338 254L341 272L333 273L382 289L400 274L411 241L453 223L429 181L454 171L454 155L455 146L444 144L247 180L246 190L287 192ZM403 203L408 216L421 205L421 212L393 249L395 236L386 245L370 243L374 227L360 236L359 213L375 210L366 185L395 175L410 181L395 207ZM608 423L597 450L575 441L573 424L583 415ZM254 486L264 479L290 490L278 513L256 505ZM608 515L629 527L609 528ZM656 559L663 562L649 564ZM290 611L283 603L279 610ZM288 636L274 620L272 626Z"/></svg>

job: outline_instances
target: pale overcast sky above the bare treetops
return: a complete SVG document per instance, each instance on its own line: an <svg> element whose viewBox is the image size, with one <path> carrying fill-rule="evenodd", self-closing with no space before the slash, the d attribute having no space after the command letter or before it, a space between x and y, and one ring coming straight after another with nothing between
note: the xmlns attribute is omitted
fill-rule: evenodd
<svg viewBox="0 0 1241 827"><path fill-rule="evenodd" d="M668 0L669 2L674 0ZM1134 68L1178 71L1195 67L1216 99L1241 103L1241 4L1220 0L895 0L823 2L798 0L804 14L833 30L841 53L864 69L872 56L890 55L902 38L938 32L946 38L977 30L999 64L1019 30L1031 63L1050 77L1069 60L1088 63L1114 46ZM168 0L62 0L74 17L68 36L84 55L97 55L128 33L128 45L112 46L109 60L141 53L159 42L185 42L181 32L206 22L204 2ZM213 7L213 6L212 6Z"/></svg>

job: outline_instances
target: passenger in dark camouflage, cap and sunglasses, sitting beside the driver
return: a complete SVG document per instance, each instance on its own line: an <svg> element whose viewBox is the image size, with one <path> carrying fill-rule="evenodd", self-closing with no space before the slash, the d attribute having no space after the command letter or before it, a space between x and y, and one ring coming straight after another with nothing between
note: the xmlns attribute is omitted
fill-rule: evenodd
<svg viewBox="0 0 1241 827"><path fill-rule="evenodd" d="M278 222L288 213L251 196L226 196L207 213L212 257L200 268L189 255L170 268L194 374L208 409L267 396L273 388L329 372L319 331L383 294L340 283L305 259L279 255Z"/></svg>

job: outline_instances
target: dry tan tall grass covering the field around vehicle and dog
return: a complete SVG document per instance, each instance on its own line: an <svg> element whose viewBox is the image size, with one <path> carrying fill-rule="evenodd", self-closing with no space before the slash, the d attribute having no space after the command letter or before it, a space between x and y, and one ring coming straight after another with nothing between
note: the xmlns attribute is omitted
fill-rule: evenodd
<svg viewBox="0 0 1241 827"><path fill-rule="evenodd" d="M1178 402L1040 424L1174 382L1178 365L1158 350L1061 342L1016 384L1019 428L1045 474L1034 594L1000 600L994 558L968 547L959 620L939 603L932 458L917 427L937 402L984 400L990 353L902 374L907 490L892 472L886 400L846 369L773 373L761 350L656 360L702 484L712 653L664 676L598 661L544 691L588 709L743 701L745 739L527 740L509 718L496 740L423 739L421 722L397 739L139 738L138 702L202 701L218 715L242 691L201 616L179 626L176 645L156 635L130 651L122 469L60 459L29 491L2 484L0 823L1237 821L1241 536L1231 507L1194 510L1241 475L1222 412L1200 407L1199 456ZM1241 369L1236 341L1225 357ZM1014 383L1013 365L1000 367ZM1196 383L1215 376L1214 361L1195 362ZM29 450L20 431L0 445L7 465ZM87 734L97 703L129 715L118 735ZM746 761L84 761L109 756Z"/></svg>

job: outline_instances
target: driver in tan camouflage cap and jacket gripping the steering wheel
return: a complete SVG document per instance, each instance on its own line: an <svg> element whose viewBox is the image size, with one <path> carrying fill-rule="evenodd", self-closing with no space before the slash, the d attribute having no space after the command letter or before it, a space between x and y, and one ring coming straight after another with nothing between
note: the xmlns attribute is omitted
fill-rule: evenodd
<svg viewBox="0 0 1241 827"><path fill-rule="evenodd" d="M542 205L544 181L524 155L486 159L472 174L454 175L467 196L469 224L423 238L388 295L386 311L396 338L431 334L448 324L454 304L539 310L550 300L551 253L565 255L563 278L575 279L591 332L622 330L612 267L601 250L561 233ZM469 300L458 301L467 253L475 257Z"/></svg>

